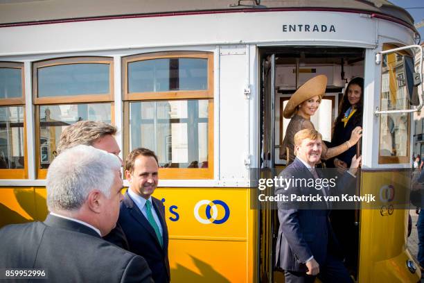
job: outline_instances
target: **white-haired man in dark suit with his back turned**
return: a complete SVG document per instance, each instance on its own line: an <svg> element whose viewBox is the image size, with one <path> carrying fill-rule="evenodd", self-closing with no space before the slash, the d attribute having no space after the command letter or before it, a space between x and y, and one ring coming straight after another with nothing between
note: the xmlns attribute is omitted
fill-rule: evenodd
<svg viewBox="0 0 424 283"><path fill-rule="evenodd" d="M46 178L50 214L0 230L0 267L37 268L47 282L152 282L143 257L101 238L118 219L120 169L118 157L91 146L58 155Z"/></svg>

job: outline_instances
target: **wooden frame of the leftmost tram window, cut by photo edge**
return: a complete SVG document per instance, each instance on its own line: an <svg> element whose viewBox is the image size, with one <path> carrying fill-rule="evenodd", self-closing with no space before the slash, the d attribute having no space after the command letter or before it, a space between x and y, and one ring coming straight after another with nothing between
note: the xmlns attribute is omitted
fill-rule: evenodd
<svg viewBox="0 0 424 283"><path fill-rule="evenodd" d="M0 107L21 107L24 112L22 127L24 128L24 168L0 169L0 179L27 179L28 178L28 149L26 143L26 108L25 108L25 73L24 63L0 62L0 68L21 69L21 96L14 98L0 98Z"/></svg>

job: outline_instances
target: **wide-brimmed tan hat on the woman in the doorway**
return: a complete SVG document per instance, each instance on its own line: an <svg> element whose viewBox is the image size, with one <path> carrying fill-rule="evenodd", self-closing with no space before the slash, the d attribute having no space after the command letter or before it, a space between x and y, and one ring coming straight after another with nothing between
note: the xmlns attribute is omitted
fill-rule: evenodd
<svg viewBox="0 0 424 283"><path fill-rule="evenodd" d="M285 105L283 116L285 119L293 117L294 112L299 104L314 96L324 96L326 94L327 76L318 75L306 83L301 85L296 92L290 97L287 105Z"/></svg>

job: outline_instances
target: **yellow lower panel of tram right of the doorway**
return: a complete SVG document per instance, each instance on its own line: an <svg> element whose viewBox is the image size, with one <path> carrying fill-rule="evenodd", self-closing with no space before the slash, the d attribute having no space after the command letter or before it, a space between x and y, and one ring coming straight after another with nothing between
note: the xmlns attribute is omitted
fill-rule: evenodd
<svg viewBox="0 0 424 283"><path fill-rule="evenodd" d="M361 194L373 194L377 204L360 214L358 282L420 280L418 263L407 250L408 210L400 206L396 209L395 205L409 201L409 180L409 171L362 173ZM416 273L408 270L407 260L414 261Z"/></svg>

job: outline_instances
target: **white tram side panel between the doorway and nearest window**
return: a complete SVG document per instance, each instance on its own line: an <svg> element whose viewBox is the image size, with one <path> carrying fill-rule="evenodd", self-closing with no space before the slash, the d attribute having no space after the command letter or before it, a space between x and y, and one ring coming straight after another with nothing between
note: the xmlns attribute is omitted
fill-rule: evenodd
<svg viewBox="0 0 424 283"><path fill-rule="evenodd" d="M249 121L244 89L247 85L245 45L220 46L219 179L247 180L244 165Z"/></svg>

